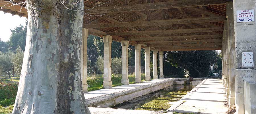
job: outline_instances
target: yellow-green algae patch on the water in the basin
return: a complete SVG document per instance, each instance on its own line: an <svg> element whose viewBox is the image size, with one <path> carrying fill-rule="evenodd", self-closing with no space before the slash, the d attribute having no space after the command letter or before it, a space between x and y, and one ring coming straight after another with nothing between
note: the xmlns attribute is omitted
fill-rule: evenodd
<svg viewBox="0 0 256 114"><path fill-rule="evenodd" d="M181 99L183 95L186 95L189 91L172 91L160 90L159 93L162 93L159 97L151 97L146 101L146 103L141 104L141 106L136 106L137 110L154 110L154 111L163 111L167 110L171 105L170 102L176 102Z"/></svg>

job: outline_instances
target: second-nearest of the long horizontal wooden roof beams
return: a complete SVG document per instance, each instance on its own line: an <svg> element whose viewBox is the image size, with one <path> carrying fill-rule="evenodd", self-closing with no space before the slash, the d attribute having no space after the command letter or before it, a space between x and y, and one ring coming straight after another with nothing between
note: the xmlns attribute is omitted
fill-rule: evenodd
<svg viewBox="0 0 256 114"><path fill-rule="evenodd" d="M174 25L174 24L190 24L190 23L208 23L226 20L226 16L216 17L200 17L200 18L184 18L173 20L154 20L154 21L133 21L133 22L116 22L116 23L100 23L86 24L86 28L111 28L111 27L135 27L135 26L154 26L154 25Z"/></svg>

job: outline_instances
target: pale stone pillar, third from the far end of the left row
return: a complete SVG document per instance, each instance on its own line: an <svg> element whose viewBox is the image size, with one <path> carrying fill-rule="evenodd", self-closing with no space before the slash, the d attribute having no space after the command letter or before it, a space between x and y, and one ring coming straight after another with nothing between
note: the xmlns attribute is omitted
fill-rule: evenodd
<svg viewBox="0 0 256 114"><path fill-rule="evenodd" d="M150 78L150 47L145 47L145 80L149 81Z"/></svg>

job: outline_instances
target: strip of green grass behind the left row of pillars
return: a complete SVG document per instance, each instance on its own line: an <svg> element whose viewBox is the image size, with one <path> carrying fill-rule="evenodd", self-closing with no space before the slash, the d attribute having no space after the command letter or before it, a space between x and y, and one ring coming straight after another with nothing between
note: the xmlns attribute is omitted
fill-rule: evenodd
<svg viewBox="0 0 256 114"><path fill-rule="evenodd" d="M135 75L129 75L129 84L135 83ZM112 87L123 85L121 83L122 76L121 75L114 75L111 76L112 80ZM145 74L141 74L141 81L145 81ZM87 84L90 86L88 87L88 91L94 91L99 89L104 89L103 85L103 76L93 76L93 77L87 77Z"/></svg>

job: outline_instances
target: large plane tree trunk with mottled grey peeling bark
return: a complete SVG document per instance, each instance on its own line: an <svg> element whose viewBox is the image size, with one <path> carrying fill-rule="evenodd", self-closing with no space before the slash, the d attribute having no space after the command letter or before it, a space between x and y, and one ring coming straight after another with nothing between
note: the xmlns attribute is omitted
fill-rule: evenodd
<svg viewBox="0 0 256 114"><path fill-rule="evenodd" d="M83 1L65 5L84 7ZM90 113L80 77L83 12L58 0L27 0L26 7L26 48L13 113Z"/></svg>

